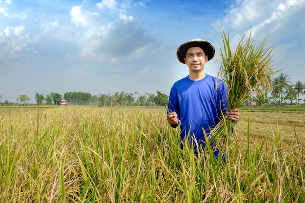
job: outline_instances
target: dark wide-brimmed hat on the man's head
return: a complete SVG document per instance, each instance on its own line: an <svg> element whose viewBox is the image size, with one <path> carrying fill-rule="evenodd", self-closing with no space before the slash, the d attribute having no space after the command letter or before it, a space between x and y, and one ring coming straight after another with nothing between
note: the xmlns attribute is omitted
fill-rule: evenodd
<svg viewBox="0 0 305 203"><path fill-rule="evenodd" d="M212 59L215 55L215 49L210 44L210 42L204 41L202 39L191 39L182 44L177 49L177 58L181 63L185 64L184 58L187 55L188 49L190 49L191 47L200 47L205 52L205 54L208 55L208 61Z"/></svg>

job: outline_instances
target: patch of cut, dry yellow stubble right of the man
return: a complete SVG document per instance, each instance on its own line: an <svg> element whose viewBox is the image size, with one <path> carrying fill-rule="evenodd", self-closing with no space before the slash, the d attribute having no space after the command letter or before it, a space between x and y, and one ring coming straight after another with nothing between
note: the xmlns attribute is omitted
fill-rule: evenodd
<svg viewBox="0 0 305 203"><path fill-rule="evenodd" d="M276 132L278 128L284 147L305 146L305 112L241 111L241 115L237 126L245 135L250 121L250 142L253 144L266 138L271 145L272 131Z"/></svg>

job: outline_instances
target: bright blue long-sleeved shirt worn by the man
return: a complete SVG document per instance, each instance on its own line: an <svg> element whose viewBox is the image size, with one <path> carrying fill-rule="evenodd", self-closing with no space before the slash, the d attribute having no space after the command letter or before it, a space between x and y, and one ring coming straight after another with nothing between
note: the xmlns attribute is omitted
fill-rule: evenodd
<svg viewBox="0 0 305 203"><path fill-rule="evenodd" d="M168 106L180 120L181 141L189 135L192 145L195 146L196 139L204 146L203 130L209 135L228 109L227 92L222 80L208 74L201 80L194 81L187 76L173 84Z"/></svg>

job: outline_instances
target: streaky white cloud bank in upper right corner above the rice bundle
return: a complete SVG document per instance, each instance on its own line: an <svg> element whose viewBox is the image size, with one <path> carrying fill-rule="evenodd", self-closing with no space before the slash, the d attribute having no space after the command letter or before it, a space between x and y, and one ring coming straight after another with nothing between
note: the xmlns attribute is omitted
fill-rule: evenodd
<svg viewBox="0 0 305 203"><path fill-rule="evenodd" d="M264 6L262 6L264 5ZM254 35L269 34L269 42L285 41L292 33L304 35L305 0L247 0L235 1L229 6L227 14L220 18L216 26L230 31L230 40L236 44L246 32ZM294 32L291 32L294 30ZM281 43L282 43L281 42Z"/></svg>

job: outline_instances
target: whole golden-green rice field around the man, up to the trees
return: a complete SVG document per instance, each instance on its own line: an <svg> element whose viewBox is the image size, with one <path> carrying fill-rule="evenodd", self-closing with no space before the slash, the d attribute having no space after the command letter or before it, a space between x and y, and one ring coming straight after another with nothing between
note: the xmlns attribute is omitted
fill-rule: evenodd
<svg viewBox="0 0 305 203"><path fill-rule="evenodd" d="M305 111L242 111L226 160L164 108L0 107L0 203L304 203Z"/></svg>

